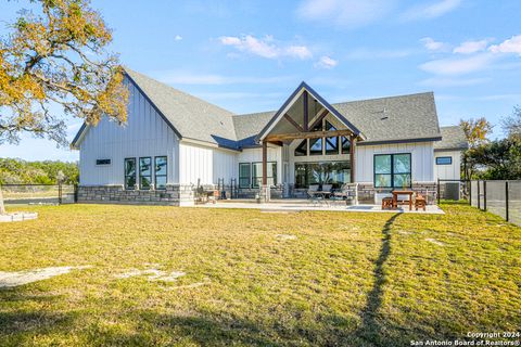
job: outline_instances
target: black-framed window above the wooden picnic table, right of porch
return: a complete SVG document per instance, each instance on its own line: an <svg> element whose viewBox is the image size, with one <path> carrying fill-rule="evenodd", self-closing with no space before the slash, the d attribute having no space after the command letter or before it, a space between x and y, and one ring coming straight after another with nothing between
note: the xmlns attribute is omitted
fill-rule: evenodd
<svg viewBox="0 0 521 347"><path fill-rule="evenodd" d="M411 187L410 153L376 154L374 188Z"/></svg>

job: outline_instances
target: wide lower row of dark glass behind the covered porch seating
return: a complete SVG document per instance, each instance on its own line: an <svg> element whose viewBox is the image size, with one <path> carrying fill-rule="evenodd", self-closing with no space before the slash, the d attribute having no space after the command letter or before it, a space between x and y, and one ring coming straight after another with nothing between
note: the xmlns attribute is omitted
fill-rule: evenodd
<svg viewBox="0 0 521 347"><path fill-rule="evenodd" d="M310 184L333 184L340 188L351 182L350 162L295 163L295 188Z"/></svg>

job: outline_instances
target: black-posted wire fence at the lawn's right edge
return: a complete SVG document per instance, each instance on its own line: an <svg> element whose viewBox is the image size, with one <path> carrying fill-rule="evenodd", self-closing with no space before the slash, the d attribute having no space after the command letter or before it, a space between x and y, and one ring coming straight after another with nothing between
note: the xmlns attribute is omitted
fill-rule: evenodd
<svg viewBox="0 0 521 347"><path fill-rule="evenodd" d="M470 181L470 204L521 226L521 180Z"/></svg>

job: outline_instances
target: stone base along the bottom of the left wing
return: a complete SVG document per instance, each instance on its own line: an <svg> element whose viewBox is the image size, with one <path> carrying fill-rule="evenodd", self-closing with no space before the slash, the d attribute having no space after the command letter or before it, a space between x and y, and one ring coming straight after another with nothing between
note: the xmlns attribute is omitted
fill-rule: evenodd
<svg viewBox="0 0 521 347"><path fill-rule="evenodd" d="M193 187L169 184L166 190L125 190L123 185L79 185L78 203L193 206Z"/></svg>

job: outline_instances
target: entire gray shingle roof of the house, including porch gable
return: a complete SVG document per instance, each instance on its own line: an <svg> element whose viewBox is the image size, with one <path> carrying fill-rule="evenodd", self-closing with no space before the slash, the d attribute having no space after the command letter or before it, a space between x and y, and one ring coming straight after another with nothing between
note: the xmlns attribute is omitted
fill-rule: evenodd
<svg viewBox="0 0 521 347"><path fill-rule="evenodd" d="M140 73L129 68L125 68L125 72L128 80L143 93L179 139L192 139L233 150L256 146L258 145L256 140L263 131L281 116L284 108L304 89L355 134L365 139L358 142L359 145L442 139L432 92L329 104L309 86L302 82L279 111L233 115L225 108ZM73 140L73 147L78 146L82 134L89 128L86 124L81 126ZM454 133L448 132L446 138L454 138ZM460 140L458 141L459 144L453 144L458 147L463 145ZM453 144L437 143L436 147Z"/></svg>

